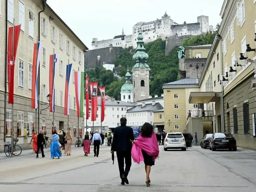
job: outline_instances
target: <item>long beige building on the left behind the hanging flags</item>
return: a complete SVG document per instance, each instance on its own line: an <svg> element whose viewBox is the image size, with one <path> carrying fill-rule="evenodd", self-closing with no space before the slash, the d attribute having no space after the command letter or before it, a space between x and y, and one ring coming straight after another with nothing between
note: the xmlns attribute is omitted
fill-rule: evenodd
<svg viewBox="0 0 256 192"><path fill-rule="evenodd" d="M5 15L5 5L7 4L7 15ZM60 62L58 63L57 75L55 80L55 126L56 129L67 130L67 116L64 116L64 95L65 95L65 78L66 65L72 63L71 87L70 87L70 125L72 128L83 127L82 118L77 123L76 105L75 105L75 84L74 70L84 71L84 52L88 48L76 36L76 34L65 24L63 20L46 5L44 12L41 0L1 0L0 1L0 28L3 33L0 34L0 143L4 139L4 80L5 80L5 42L6 36L4 29L13 25L21 24L20 39L18 44L17 56L15 60L15 80L14 80L14 113L13 126L14 137L19 133L19 144L28 147L31 139L33 126L36 129L35 109L31 109L31 87L32 87L32 64L34 43L38 37L43 42L43 50L40 63L40 109L41 111L39 128L43 128L47 136L52 134L52 112L49 112L49 102L46 96L49 94L49 56L50 54L60 53ZM5 23L7 17L7 23ZM38 22L40 22L40 31L38 31ZM7 86L8 93L8 86ZM11 104L8 104L7 95L7 112L6 141L10 141L12 111ZM19 126L18 126L19 125ZM36 129L37 130L37 129ZM26 133L28 135L26 136ZM73 133L73 132L72 132ZM25 135L25 136L24 136Z"/></svg>

